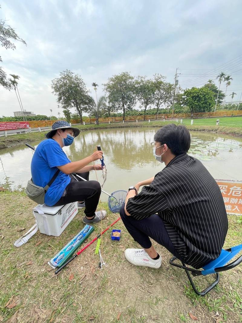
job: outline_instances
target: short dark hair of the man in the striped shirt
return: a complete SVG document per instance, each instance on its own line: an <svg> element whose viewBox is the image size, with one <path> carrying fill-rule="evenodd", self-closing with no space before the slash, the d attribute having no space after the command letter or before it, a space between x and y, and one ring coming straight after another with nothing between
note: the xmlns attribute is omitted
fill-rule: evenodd
<svg viewBox="0 0 242 323"><path fill-rule="evenodd" d="M174 155L187 153L191 144L191 136L183 125L167 124L159 129L154 137L156 142L166 143Z"/></svg>

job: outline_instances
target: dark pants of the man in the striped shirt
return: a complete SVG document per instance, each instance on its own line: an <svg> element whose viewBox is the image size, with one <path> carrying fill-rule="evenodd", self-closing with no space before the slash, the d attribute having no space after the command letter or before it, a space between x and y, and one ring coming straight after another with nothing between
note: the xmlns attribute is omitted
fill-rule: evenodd
<svg viewBox="0 0 242 323"><path fill-rule="evenodd" d="M163 245L171 254L182 260L177 254L166 231L164 222L158 214L153 214L143 220L136 220L131 215L125 214L123 204L120 209L120 216L129 234L142 248L150 248L152 245L150 238L152 238L158 244Z"/></svg>

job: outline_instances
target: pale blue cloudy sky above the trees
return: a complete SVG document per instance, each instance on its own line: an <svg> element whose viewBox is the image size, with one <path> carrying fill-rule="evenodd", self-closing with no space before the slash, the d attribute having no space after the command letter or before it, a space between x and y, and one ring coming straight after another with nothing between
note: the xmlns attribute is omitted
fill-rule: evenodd
<svg viewBox="0 0 242 323"><path fill-rule="evenodd" d="M229 94L242 91L241 1L234 0L0 0L5 19L23 38L16 50L1 48L5 71L18 74L24 109L60 111L51 80L65 69L92 91L123 71L173 82L178 67L184 88L202 86L218 72L232 73ZM197 74L197 75L190 75ZM205 75L204 75L205 74ZM225 89L223 84L222 89ZM15 93L0 88L0 116L13 116ZM72 111L74 112L74 111Z"/></svg>

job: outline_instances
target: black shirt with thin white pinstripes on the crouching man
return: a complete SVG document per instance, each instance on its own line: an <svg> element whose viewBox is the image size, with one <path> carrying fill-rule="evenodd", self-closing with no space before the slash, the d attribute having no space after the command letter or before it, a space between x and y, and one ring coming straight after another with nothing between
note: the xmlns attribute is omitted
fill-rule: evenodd
<svg viewBox="0 0 242 323"><path fill-rule="evenodd" d="M224 201L217 182L194 157L176 156L128 200L126 210L137 220L158 213L176 251L194 268L221 253L228 229Z"/></svg>

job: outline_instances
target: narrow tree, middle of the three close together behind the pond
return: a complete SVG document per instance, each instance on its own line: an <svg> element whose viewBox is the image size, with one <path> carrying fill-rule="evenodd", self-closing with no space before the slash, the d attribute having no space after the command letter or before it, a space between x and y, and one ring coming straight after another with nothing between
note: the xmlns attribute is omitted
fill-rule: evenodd
<svg viewBox="0 0 242 323"><path fill-rule="evenodd" d="M144 106L144 120L146 120L147 106L154 103L155 83L146 76L138 76L135 80L136 97Z"/></svg>

